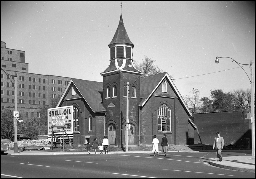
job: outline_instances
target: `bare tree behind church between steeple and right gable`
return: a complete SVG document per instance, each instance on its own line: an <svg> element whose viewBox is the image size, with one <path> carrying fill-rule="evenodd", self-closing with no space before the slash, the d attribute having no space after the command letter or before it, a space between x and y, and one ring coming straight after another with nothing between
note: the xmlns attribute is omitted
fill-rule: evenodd
<svg viewBox="0 0 256 179"><path fill-rule="evenodd" d="M158 73L162 73L163 70L159 68L157 65L154 63L156 60L153 60L152 58L148 58L147 55L144 56L144 59L142 59L141 63L138 63L136 60L133 61L135 68L140 70L143 74L148 74L148 75L155 75ZM145 75L141 75L141 77L144 77ZM170 75L172 78L173 75Z"/></svg>

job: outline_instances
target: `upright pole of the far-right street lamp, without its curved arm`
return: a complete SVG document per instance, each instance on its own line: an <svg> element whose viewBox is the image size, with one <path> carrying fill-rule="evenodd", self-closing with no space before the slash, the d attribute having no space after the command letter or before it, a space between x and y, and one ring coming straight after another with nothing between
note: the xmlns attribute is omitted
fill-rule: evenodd
<svg viewBox="0 0 256 179"><path fill-rule="evenodd" d="M252 124L252 156L255 156L255 116L254 116L254 85L253 85L253 62L251 60L251 124Z"/></svg>

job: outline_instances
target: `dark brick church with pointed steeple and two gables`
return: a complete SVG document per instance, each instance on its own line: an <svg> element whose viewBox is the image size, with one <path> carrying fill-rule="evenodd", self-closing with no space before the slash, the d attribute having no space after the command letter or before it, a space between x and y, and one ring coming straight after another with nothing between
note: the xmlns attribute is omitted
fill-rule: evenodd
<svg viewBox="0 0 256 179"><path fill-rule="evenodd" d="M151 145L154 135L161 140L163 134L169 144L194 144L191 111L168 73L141 77L144 74L135 68L134 45L122 14L108 47L110 63L100 73L103 82L71 78L57 104L74 106L73 144L83 145L95 137L101 143L106 135L110 145L125 146L127 96L129 145Z"/></svg>

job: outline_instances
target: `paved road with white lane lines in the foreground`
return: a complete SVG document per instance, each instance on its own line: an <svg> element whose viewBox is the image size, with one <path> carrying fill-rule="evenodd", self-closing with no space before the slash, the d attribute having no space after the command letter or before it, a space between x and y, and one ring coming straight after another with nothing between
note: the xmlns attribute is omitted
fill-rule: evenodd
<svg viewBox="0 0 256 179"><path fill-rule="evenodd" d="M215 152L1 155L1 178L255 178L255 173L209 165ZM223 152L223 157L246 153Z"/></svg>

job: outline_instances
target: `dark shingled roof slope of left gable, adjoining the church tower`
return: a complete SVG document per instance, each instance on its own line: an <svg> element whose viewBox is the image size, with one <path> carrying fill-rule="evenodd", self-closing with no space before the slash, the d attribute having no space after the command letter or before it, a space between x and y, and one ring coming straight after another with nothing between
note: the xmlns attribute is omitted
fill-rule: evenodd
<svg viewBox="0 0 256 179"><path fill-rule="evenodd" d="M88 105L96 112L106 112L102 106L103 83L72 78L73 83L87 101Z"/></svg>

